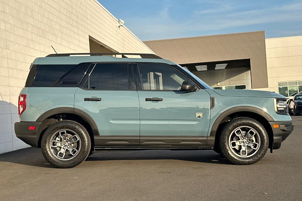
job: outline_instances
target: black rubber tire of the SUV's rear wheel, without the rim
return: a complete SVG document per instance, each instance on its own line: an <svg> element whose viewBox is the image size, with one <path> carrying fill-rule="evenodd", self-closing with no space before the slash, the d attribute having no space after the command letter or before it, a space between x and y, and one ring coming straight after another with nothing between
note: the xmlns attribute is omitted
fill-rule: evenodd
<svg viewBox="0 0 302 201"><path fill-rule="evenodd" d="M73 132L76 132L81 142L81 147L77 155L67 161L56 158L50 150L51 137L60 129L69 129ZM87 130L81 124L75 121L63 120L54 123L46 129L45 133L42 136L41 148L44 158L53 166L57 168L73 168L82 163L88 157L91 148L91 142Z"/></svg>

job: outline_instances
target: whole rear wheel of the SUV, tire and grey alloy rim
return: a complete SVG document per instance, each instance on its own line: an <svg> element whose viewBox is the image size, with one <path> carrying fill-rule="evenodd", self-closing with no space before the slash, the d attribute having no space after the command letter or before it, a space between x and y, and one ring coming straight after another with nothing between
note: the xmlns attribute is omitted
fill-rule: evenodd
<svg viewBox="0 0 302 201"><path fill-rule="evenodd" d="M57 168L72 168L82 163L90 152L87 130L79 123L64 120L49 126L43 134L44 158Z"/></svg>

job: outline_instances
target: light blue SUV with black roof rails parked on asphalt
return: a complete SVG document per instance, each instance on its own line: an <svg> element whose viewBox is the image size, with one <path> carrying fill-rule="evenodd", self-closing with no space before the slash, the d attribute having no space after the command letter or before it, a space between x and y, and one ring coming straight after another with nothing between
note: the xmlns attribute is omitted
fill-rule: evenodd
<svg viewBox="0 0 302 201"><path fill-rule="evenodd" d="M71 168L94 152L143 149L214 149L234 164L253 164L293 130L282 95L214 90L157 55L112 54L32 63L15 133L50 164Z"/></svg>

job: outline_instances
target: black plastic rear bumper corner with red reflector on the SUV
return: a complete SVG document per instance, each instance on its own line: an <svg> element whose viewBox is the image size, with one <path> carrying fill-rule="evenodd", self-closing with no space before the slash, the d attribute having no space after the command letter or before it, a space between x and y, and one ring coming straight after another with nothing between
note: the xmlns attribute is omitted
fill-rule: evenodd
<svg viewBox="0 0 302 201"><path fill-rule="evenodd" d="M28 145L31 145L33 147L38 147L38 129L42 122L16 122L14 124L15 127L15 133L17 138L21 139L23 142L25 142ZM30 130L29 126L35 126L36 129Z"/></svg>

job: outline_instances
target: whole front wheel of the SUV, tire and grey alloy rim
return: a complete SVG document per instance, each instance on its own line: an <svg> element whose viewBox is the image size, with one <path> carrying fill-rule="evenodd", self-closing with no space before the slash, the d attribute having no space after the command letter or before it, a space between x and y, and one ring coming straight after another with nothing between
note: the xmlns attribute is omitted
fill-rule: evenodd
<svg viewBox="0 0 302 201"><path fill-rule="evenodd" d="M268 134L262 124L252 118L233 119L220 134L220 150L234 164L254 164L264 157L267 149Z"/></svg>

